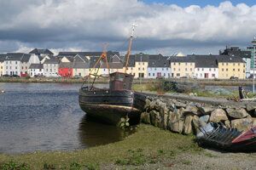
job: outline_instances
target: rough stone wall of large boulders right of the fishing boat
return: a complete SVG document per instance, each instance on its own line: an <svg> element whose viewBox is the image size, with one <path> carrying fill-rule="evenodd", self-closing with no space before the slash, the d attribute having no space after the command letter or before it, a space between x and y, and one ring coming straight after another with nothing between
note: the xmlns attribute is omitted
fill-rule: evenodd
<svg viewBox="0 0 256 170"><path fill-rule="evenodd" d="M198 133L207 122L247 131L256 126L256 105L209 105L177 99L148 98L141 121L176 133Z"/></svg>

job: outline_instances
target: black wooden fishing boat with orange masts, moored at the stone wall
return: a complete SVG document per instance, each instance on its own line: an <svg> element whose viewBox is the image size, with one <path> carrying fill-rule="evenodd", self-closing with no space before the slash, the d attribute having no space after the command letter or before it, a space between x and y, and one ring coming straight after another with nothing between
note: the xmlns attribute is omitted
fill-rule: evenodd
<svg viewBox="0 0 256 170"><path fill-rule="evenodd" d="M107 77L109 78L109 88L96 88L94 86L95 79L102 76L90 73L92 77L95 77L92 85L82 85L79 89L79 105L87 116L95 117L102 122L116 126L122 126L122 123L129 126L140 122L146 95L131 90L134 76L126 73L134 27L126 54L125 72L110 73L109 77ZM104 49L102 56L96 62L96 65L100 64L97 68L100 68L104 60L106 65L108 65L105 51L106 49ZM96 65L94 68L96 68Z"/></svg>

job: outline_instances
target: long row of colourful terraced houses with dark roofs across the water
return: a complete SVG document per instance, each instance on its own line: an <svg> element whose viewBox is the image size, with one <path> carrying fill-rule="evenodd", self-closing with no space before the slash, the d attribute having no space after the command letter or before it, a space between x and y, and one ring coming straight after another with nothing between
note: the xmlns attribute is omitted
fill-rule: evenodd
<svg viewBox="0 0 256 170"><path fill-rule="evenodd" d="M102 52L60 52L56 56L49 49L33 49L28 54L0 54L0 74L25 77L88 77L90 73L108 75L108 72L125 71L125 56L108 51L108 65L94 68ZM218 55L163 56L161 54L131 54L127 73L134 77L193 77L247 78L254 68L253 50L226 48ZM94 69L93 69L94 68Z"/></svg>

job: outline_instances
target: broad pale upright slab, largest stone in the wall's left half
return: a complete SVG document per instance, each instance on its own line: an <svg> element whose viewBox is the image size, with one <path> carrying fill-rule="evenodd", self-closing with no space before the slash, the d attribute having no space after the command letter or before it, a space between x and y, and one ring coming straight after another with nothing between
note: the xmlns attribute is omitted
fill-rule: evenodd
<svg viewBox="0 0 256 170"><path fill-rule="evenodd" d="M173 111L170 114L168 128L173 132L183 133L184 113L183 108Z"/></svg>

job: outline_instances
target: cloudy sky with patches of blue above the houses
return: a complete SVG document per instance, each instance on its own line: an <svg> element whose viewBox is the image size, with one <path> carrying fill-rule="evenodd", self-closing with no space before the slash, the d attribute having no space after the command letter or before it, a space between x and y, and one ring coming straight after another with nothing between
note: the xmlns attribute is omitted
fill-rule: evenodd
<svg viewBox="0 0 256 170"><path fill-rule="evenodd" d="M58 51L218 54L256 37L255 0L1 0L0 53Z"/></svg>

